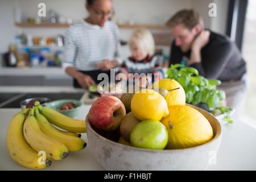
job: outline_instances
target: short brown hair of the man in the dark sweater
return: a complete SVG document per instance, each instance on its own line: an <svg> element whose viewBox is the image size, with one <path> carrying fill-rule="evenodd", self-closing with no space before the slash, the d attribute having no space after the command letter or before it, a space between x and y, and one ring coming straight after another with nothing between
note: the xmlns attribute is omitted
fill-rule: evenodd
<svg viewBox="0 0 256 182"><path fill-rule="evenodd" d="M201 18L200 14L193 9L184 9L178 11L168 20L166 25L168 27L175 27L180 23L184 24L184 26L187 27L189 30L192 30L192 28L195 27L196 24L200 24L200 26L204 28L203 19Z"/></svg>

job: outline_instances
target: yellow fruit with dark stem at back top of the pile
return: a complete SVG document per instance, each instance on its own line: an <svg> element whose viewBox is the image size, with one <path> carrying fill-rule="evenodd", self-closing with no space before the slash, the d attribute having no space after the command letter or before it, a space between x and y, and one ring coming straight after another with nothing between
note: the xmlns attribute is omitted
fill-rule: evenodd
<svg viewBox="0 0 256 182"><path fill-rule="evenodd" d="M168 106L172 105L185 105L186 95L183 87L179 82L171 78L164 78L154 82L152 88L163 88L168 90L165 99Z"/></svg>

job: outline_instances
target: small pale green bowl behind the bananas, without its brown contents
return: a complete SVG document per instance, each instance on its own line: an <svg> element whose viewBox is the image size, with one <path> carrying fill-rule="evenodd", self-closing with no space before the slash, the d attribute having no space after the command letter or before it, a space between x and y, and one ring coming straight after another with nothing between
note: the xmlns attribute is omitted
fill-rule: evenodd
<svg viewBox="0 0 256 182"><path fill-rule="evenodd" d="M68 102L73 102L76 105L75 108L69 109L69 110L60 110L60 107ZM81 105L82 103L79 100L72 100L72 99L56 100L56 101L46 103L47 107L51 107L52 109L57 110L59 113L67 115L68 117L71 117L71 118L75 118L79 114Z"/></svg>

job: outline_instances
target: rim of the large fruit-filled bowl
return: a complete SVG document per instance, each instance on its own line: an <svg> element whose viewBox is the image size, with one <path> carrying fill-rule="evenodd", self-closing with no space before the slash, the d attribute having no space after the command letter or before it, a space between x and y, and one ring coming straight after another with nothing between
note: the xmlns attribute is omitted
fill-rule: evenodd
<svg viewBox="0 0 256 182"><path fill-rule="evenodd" d="M138 151L144 151L144 152L178 152L178 151L189 151L189 150L193 150L193 149L197 149L197 148L200 148L202 146L208 146L209 144L213 143L215 140L219 139L222 135L222 129L221 129L221 124L220 122L218 121L218 119L216 117L214 117L213 114L209 113L208 111L204 110L204 109L201 109L200 107L197 107L197 106L193 106L193 105L190 105L190 104L186 104L188 106L192 106L192 107L196 107L197 109L209 114L211 117L214 118L214 120L216 121L216 128L218 129L214 135L214 137L209 140L207 143L203 143L203 144L200 144L198 146L194 146L194 147L189 147L189 148L177 148L177 149L163 149L163 150L158 150L158 149L150 149L150 148L139 148L139 147L134 147L134 146L128 146L128 145L125 145L125 144L121 144L121 143L118 143L118 142L114 142L108 138L105 138L103 137L102 135L98 134L95 130L93 130L92 126L90 125L90 122L89 122L89 113L86 115L86 118L85 118L85 122L86 122L86 135L87 135L87 130L90 130L90 132L92 132L94 135L96 135L96 137L98 138L101 138L103 140L105 140L106 142L109 142L109 143L112 143L112 144L115 144L117 146L122 146L122 147L125 147L125 148L134 148ZM194 108L195 109L195 108ZM208 119L207 119L208 121ZM208 121L209 122L209 121ZM210 122L209 122L210 123ZM212 127L212 125L210 125Z"/></svg>

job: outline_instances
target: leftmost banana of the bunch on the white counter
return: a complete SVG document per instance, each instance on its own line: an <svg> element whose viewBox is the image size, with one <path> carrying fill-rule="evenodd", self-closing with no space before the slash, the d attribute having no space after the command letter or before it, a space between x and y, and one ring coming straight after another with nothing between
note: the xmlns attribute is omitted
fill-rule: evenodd
<svg viewBox="0 0 256 182"><path fill-rule="evenodd" d="M38 152L31 148L23 138L23 124L27 110L20 111L11 119L6 135L7 149L11 158L21 166L43 169L51 166L51 160L46 159L45 164L40 164Z"/></svg>

